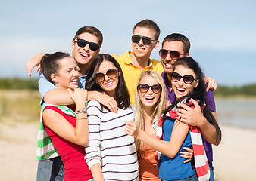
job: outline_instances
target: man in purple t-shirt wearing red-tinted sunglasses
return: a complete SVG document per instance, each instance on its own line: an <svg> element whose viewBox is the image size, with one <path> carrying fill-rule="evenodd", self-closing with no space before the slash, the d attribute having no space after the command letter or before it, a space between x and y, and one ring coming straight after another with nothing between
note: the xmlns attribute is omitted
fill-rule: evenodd
<svg viewBox="0 0 256 181"><path fill-rule="evenodd" d="M167 99L170 101L170 103L175 101L175 94L170 84L170 75L173 72L173 65L179 57L189 57L189 49L189 39L186 38L186 36L178 33L167 35L167 37L164 38L164 41L162 42L162 49L159 51L159 55L161 56L161 63L164 68L164 72L161 75L164 78L164 83L167 90ZM205 96L205 102L214 115L214 118L217 120L214 94L211 90L208 90L209 87L212 87L212 89L215 90L217 85L212 78L206 78L205 81L210 84L214 84L214 86L209 85L206 88L207 93ZM201 108L198 103L193 100L192 103L194 103L195 109L192 109L185 104L180 104L180 109L178 109L177 115L180 116L180 121L183 123L192 126L198 126L200 128L201 133L203 134L204 149L208 157L211 170L210 180L214 180L214 172L212 167L213 152L211 144L219 144L216 141L216 130L215 127L211 125L201 114Z"/></svg>

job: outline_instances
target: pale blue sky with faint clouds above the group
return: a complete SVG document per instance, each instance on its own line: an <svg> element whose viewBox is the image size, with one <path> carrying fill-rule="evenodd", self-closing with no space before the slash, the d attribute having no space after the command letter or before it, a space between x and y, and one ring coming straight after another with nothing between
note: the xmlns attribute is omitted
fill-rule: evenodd
<svg viewBox="0 0 256 181"><path fill-rule="evenodd" d="M191 41L191 57L217 84L256 83L256 2L251 1L2 1L0 78L26 78L27 60L39 52L67 51L76 30L95 26L104 36L101 53L131 50L133 26L146 18L166 35ZM160 60L158 51L152 58ZM38 76L33 73L33 78Z"/></svg>

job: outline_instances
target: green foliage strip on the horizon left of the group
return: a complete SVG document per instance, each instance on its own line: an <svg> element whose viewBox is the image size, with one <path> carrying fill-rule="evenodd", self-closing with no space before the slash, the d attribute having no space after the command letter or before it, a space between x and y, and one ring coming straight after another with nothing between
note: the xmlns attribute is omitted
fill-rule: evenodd
<svg viewBox="0 0 256 181"><path fill-rule="evenodd" d="M38 80L34 78L1 78L0 89L2 90L38 90Z"/></svg>

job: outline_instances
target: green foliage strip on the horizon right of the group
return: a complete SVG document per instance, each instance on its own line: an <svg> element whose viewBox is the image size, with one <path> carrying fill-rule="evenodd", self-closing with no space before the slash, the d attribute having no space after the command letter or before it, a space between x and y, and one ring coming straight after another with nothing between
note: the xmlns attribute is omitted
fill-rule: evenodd
<svg viewBox="0 0 256 181"><path fill-rule="evenodd" d="M242 87L228 87L218 85L217 90L214 92L215 96L220 97L232 97L232 96L245 96L255 97L256 96L256 84L248 84Z"/></svg>

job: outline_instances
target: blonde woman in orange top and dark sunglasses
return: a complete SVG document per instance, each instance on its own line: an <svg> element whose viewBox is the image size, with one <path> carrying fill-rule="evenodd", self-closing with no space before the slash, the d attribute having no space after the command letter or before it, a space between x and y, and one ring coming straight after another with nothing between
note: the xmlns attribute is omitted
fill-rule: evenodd
<svg viewBox="0 0 256 181"><path fill-rule="evenodd" d="M164 112L166 106L166 91L164 81L158 72L153 70L143 71L136 82L135 106L133 111L136 115L136 124L151 137L156 137L156 127L158 119ZM158 169L155 161L155 149L136 140L136 149L139 158L139 177L141 180L158 179ZM186 162L192 158L192 150L184 148L189 152L182 152L182 156L187 158Z"/></svg>

